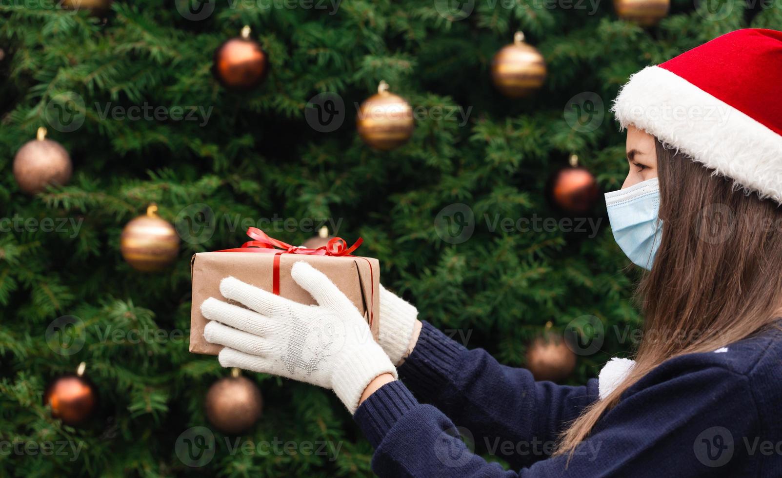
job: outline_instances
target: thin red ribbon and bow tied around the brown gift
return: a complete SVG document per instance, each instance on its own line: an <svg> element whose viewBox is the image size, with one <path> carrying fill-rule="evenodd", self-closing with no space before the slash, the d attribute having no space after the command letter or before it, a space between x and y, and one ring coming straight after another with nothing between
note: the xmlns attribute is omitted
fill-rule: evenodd
<svg viewBox="0 0 782 478"><path fill-rule="evenodd" d="M272 272L271 292L275 295L280 295L280 256L282 254L306 254L310 256L332 256L332 257L360 257L353 256L352 252L364 243L364 239L358 238L353 246L348 247L345 240L341 237L335 237L328 239L328 244L318 247L317 249L309 249L301 246L291 246L289 243L283 243L279 239L269 237L266 232L261 231L259 228L247 229L247 235L255 239L247 241L242 244L242 247L235 247L233 249L217 250L216 252L264 252L274 254L274 268ZM366 258L360 257L367 261ZM371 304L369 308L369 325L372 325L372 309L375 308L375 278L372 272L372 264L369 264L369 278L370 278L370 290L371 290ZM363 291L362 291L363 293Z"/></svg>

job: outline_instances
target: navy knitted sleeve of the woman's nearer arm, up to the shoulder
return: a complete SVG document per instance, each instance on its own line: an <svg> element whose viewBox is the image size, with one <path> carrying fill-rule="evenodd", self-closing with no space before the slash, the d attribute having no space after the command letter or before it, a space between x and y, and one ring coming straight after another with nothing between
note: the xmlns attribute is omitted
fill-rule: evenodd
<svg viewBox="0 0 782 478"><path fill-rule="evenodd" d="M570 458L542 459L518 472L477 455L484 438L475 428L454 426L437 408L419 404L399 381L372 394L354 419L376 448L372 469L378 476L760 476L759 460L744 445L769 437L759 436L747 377L714 366L670 372L639 382ZM533 440L488 445L492 456L503 448L541 455L550 446Z"/></svg>

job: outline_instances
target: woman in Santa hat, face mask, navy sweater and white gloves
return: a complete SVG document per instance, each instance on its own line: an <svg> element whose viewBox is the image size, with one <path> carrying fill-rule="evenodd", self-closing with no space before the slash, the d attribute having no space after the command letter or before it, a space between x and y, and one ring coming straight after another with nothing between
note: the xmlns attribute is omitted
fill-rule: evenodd
<svg viewBox="0 0 782 478"><path fill-rule="evenodd" d="M634 363L586 386L467 350L386 289L375 343L304 263L292 275L318 306L224 279L252 310L206 300L204 335L227 347L221 365L334 390L381 476L517 475L469 451L454 422L518 476L782 476L780 78L782 33L743 30L622 88L630 172L606 202L619 246L651 269L647 333Z"/></svg>

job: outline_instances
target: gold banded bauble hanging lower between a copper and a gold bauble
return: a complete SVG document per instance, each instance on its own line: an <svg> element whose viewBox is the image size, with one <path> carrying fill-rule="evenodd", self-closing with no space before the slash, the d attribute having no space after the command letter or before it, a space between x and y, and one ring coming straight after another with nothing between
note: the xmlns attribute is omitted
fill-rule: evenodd
<svg viewBox="0 0 782 478"><path fill-rule="evenodd" d="M402 97L388 91L381 81L378 94L371 95L358 109L358 135L369 146L388 151L404 145L413 135L413 109Z"/></svg>

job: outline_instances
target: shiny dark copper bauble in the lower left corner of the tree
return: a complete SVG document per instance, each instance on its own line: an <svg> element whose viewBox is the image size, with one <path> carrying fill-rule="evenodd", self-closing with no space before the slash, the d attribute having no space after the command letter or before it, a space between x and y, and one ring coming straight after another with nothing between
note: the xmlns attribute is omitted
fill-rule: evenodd
<svg viewBox="0 0 782 478"><path fill-rule="evenodd" d="M95 388L75 375L59 377L44 392L44 404L52 407L52 416L71 426L84 422L95 402Z"/></svg>

